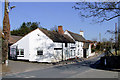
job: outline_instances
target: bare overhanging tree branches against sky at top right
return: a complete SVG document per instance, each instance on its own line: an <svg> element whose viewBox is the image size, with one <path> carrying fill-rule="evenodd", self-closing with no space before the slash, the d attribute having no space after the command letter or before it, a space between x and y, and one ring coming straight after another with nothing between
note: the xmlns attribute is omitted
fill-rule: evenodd
<svg viewBox="0 0 120 80"><path fill-rule="evenodd" d="M109 21L120 16L120 2L77 2L73 8L83 18L94 17L96 22Z"/></svg>

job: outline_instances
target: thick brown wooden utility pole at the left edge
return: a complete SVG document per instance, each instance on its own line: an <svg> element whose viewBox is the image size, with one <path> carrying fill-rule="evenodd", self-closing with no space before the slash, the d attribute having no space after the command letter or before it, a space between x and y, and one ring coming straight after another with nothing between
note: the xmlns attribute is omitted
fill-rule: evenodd
<svg viewBox="0 0 120 80"><path fill-rule="evenodd" d="M2 62L8 65L8 40L10 37L10 21L9 21L9 2L5 0L4 19L3 19L3 33L4 40L2 43Z"/></svg>

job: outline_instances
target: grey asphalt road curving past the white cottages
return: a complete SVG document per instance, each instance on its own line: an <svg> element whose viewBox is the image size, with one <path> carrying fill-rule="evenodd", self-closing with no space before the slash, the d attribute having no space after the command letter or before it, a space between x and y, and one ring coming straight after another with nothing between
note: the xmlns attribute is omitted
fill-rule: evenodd
<svg viewBox="0 0 120 80"><path fill-rule="evenodd" d="M97 73L99 73L99 76L101 73L107 74L107 76L104 75L104 76L101 76L101 78L118 77L117 76L118 73L100 71L90 67L91 64L94 64L103 55L104 54L101 54L92 59L88 59L82 62L76 62L73 64L59 65L59 66L53 66L50 68L45 68L40 70L33 70L33 71L28 71L28 72L23 72L18 74L11 74L11 75L4 76L4 78L81 78L81 77L86 77L84 76L86 74L96 75ZM91 76L88 76L88 77L91 77ZM95 77L95 76L92 76L92 77Z"/></svg>

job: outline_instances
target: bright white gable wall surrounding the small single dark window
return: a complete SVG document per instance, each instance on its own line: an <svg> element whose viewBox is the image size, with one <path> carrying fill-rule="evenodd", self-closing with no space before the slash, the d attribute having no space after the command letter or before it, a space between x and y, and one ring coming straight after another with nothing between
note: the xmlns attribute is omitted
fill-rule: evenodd
<svg viewBox="0 0 120 80"><path fill-rule="evenodd" d="M30 33L29 40L29 61L51 62L55 46L53 41L39 29ZM37 55L37 50L43 50L43 55Z"/></svg>

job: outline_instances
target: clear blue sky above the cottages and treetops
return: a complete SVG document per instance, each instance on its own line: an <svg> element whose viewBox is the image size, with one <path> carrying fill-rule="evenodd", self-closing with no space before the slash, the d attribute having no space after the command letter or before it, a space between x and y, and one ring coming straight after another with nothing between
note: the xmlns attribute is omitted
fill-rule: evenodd
<svg viewBox="0 0 120 80"><path fill-rule="evenodd" d="M105 33L107 30L115 30L117 18L109 22L91 23L92 19L84 20L79 16L79 12L72 8L74 5L75 2L10 2L10 6L16 6L9 13L11 30L18 29L23 22L40 22L40 25L48 30L55 25L62 25L64 31L78 34L83 30L87 40L97 38L99 41L99 33L101 39L111 37L111 34ZM1 7L3 20L3 2Z"/></svg>

